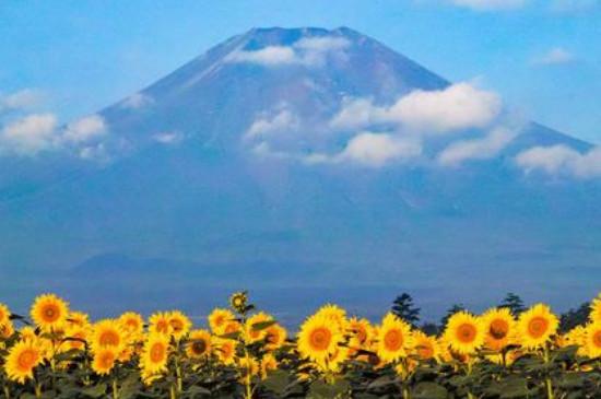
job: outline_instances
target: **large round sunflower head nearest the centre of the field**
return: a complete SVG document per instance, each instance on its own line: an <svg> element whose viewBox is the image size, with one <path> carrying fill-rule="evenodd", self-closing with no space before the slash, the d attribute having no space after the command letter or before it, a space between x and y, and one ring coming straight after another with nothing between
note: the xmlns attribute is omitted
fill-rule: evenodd
<svg viewBox="0 0 601 399"><path fill-rule="evenodd" d="M314 315L307 319L298 332L297 349L303 357L325 361L333 354L342 342L342 333L337 324L323 316Z"/></svg>

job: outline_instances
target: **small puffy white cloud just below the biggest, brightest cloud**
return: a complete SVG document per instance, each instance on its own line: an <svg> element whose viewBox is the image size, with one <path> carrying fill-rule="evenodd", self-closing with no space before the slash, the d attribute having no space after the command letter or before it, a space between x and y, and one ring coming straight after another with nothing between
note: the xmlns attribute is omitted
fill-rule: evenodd
<svg viewBox="0 0 601 399"><path fill-rule="evenodd" d="M416 141L399 139L391 134L365 132L352 138L344 151L338 155L338 160L381 167L392 161L416 157L421 153L422 145Z"/></svg>

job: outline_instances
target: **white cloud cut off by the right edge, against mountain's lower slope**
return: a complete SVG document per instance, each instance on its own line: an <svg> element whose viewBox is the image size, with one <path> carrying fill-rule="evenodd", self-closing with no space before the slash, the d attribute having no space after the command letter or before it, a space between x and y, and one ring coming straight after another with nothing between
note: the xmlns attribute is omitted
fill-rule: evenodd
<svg viewBox="0 0 601 399"><path fill-rule="evenodd" d="M535 146L519 153L516 162L527 172L541 169L580 178L601 177L601 148L581 154L566 145Z"/></svg>

